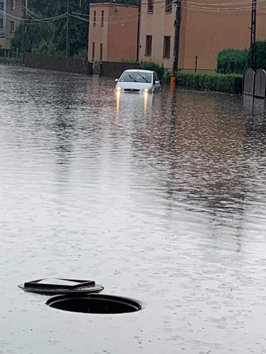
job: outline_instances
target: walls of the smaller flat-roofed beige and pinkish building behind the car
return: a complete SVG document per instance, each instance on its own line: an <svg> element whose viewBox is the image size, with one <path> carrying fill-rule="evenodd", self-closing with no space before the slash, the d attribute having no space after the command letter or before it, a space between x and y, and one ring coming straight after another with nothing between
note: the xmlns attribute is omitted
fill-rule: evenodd
<svg viewBox="0 0 266 354"><path fill-rule="evenodd" d="M94 11L96 21L94 25ZM104 11L103 26L101 14ZM120 4L90 4L88 60L92 60L95 43L95 60L119 62L137 58L138 7Z"/></svg>

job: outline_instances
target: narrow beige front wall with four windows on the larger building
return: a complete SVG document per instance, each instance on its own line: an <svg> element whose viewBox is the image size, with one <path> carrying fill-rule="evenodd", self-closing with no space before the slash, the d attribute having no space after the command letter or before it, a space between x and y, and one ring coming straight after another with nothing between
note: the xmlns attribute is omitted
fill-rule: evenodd
<svg viewBox="0 0 266 354"><path fill-rule="evenodd" d="M142 1L140 10L140 61L154 61L158 64L164 64L165 68L172 68L173 65L173 47L174 47L174 17L175 7L172 6L172 12L165 12L165 3L160 0L154 2L153 13L147 12L147 1ZM145 55L146 35L152 35L151 56ZM164 36L171 36L170 58L163 57Z"/></svg>

